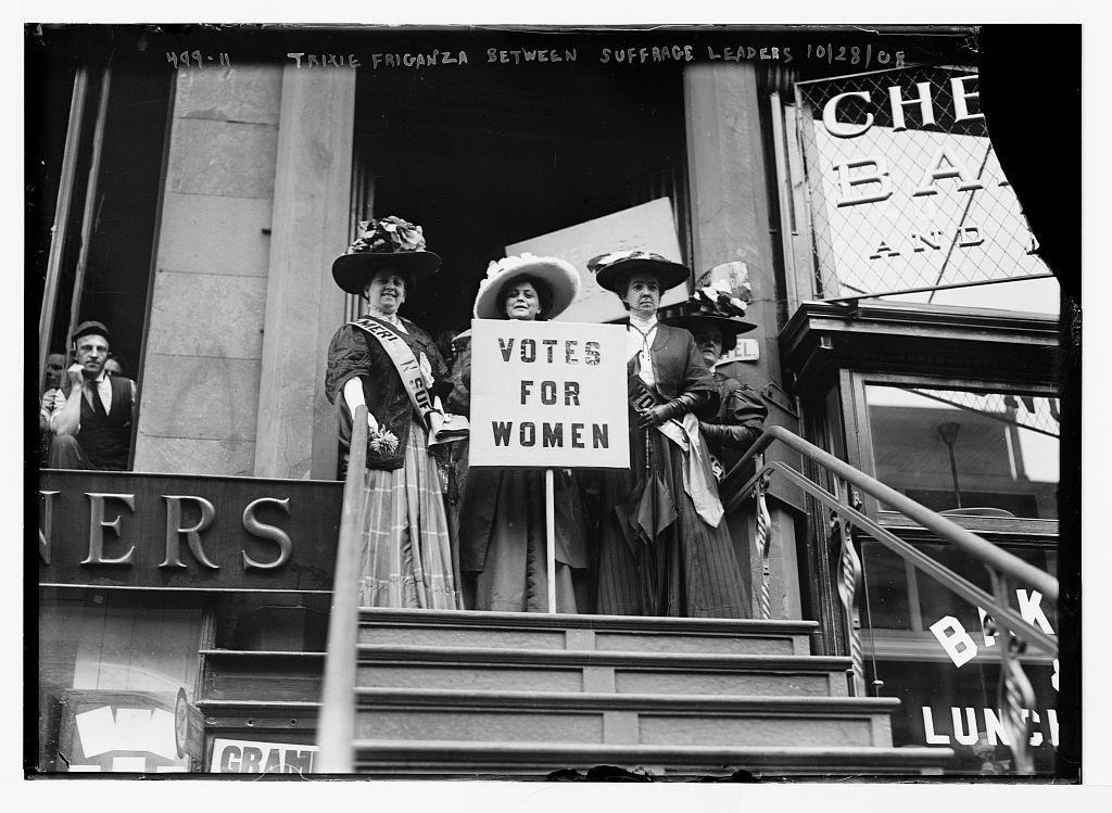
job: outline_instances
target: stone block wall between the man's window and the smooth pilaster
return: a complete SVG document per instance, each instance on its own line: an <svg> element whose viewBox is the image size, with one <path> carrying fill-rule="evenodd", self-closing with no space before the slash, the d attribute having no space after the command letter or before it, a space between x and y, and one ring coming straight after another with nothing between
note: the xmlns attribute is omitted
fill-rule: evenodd
<svg viewBox="0 0 1112 813"><path fill-rule="evenodd" d="M178 73L136 470L254 472L281 86L280 67Z"/></svg>

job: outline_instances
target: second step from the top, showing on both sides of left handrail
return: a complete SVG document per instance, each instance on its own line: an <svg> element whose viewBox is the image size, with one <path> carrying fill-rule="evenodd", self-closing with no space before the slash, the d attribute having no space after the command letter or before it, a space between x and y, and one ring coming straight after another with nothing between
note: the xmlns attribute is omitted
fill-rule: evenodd
<svg viewBox="0 0 1112 813"><path fill-rule="evenodd" d="M205 695L214 700L315 701L322 653L207 650ZM360 646L357 683L381 688L618 694L826 696L847 694L848 658Z"/></svg>

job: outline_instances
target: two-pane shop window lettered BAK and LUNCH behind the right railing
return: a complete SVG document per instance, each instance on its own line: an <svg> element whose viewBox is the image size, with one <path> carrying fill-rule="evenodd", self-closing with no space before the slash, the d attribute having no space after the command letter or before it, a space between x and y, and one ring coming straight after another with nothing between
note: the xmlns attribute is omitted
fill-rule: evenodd
<svg viewBox="0 0 1112 813"><path fill-rule="evenodd" d="M1040 394L934 387L930 383L871 376L857 380L863 467L915 502L977 533L1052 575L1058 562L1059 404ZM883 380L877 383L876 378ZM898 525L880 505L878 518ZM954 545L921 529L897 535L953 574L993 594L987 568ZM885 545L860 537L864 565L862 643L870 680L901 700L893 716L896 746L954 750L950 769L971 775L1006 774L1012 754L1002 733L997 695L1001 636L987 637L979 607L915 568ZM1044 632L1056 634L1053 602L1009 588L1007 605ZM984 607L991 613L991 608ZM937 626L943 623L944 626ZM935 627L935 631L932 631ZM942 636L940 638L940 635ZM972 642L947 648L951 636ZM961 653L957 653L957 648ZM969 655L966 657L966 655ZM1027 710L1037 773L1054 771L1058 743L1054 658L1029 646L1023 668L1034 686Z"/></svg>

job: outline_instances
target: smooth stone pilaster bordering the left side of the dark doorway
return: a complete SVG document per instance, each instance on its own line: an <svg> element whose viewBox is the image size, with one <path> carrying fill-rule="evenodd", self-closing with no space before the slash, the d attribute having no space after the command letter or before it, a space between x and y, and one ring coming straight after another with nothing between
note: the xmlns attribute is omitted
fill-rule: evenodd
<svg viewBox="0 0 1112 813"><path fill-rule="evenodd" d="M348 244L356 73L286 66L275 173L255 476L336 476L328 340L344 318L332 259Z"/></svg>

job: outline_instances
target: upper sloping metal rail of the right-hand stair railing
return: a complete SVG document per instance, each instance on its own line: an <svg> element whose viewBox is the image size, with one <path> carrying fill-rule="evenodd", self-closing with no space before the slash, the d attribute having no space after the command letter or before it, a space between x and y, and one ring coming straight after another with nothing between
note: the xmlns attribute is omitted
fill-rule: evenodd
<svg viewBox="0 0 1112 813"><path fill-rule="evenodd" d="M783 426L770 426L766 428L753 446L751 446L741 457L733 469L731 469L731 473L737 470L741 466L744 466L748 460L753 459L757 455L763 454L774 440L780 440L788 448L794 449L806 457L808 460L812 460L813 463L816 463L827 469L835 477L840 477L846 483L850 483L863 494L874 497L893 510L903 514L909 519L914 520L922 527L934 533L945 542L953 544L963 553L969 554L1006 576L1011 576L1021 584L1025 584L1037 589L1048 598L1058 601L1058 579L1049 573L1040 571L1034 565L1031 565L1017 556L1001 549L986 539L982 539L973 532L963 528L961 525L957 525L941 514L920 505L894 488L884 485L873 477L870 477L867 474L854 468L845 460L842 460L828 452L818 448L814 444L807 443L798 435L785 429ZM747 497L747 488L742 488L735 492L734 495L725 500L726 510L735 508Z"/></svg>

